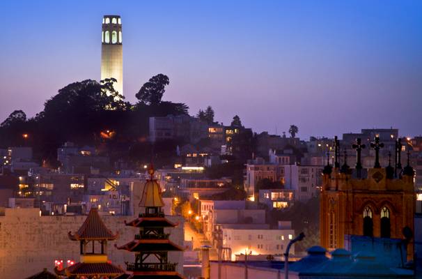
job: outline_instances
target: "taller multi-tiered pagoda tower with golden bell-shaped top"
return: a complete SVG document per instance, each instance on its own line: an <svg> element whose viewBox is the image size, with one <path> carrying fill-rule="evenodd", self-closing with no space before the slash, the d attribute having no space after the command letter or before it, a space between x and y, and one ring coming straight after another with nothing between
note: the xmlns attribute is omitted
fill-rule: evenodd
<svg viewBox="0 0 422 279"><path fill-rule="evenodd" d="M169 234L164 233L165 227L175 227L164 216L162 207L164 202L161 197L159 184L153 179L154 169L148 169L150 179L145 183L139 206L145 208L145 213L140 213L139 218L125 222L125 225L138 227L133 241L118 249L135 253L134 263L126 263L130 274L118 278L183 278L177 271L177 263L169 262L169 251L183 251L183 248L169 240Z"/></svg>

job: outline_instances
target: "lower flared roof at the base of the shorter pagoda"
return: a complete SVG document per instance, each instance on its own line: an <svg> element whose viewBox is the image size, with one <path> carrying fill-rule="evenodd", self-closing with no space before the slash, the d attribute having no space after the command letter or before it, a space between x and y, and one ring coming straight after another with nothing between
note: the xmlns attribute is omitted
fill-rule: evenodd
<svg viewBox="0 0 422 279"><path fill-rule="evenodd" d="M69 266L61 271L55 269L56 273L61 276L118 276L119 274L125 273L123 269L109 264L108 262L103 263L84 263L78 262L72 266Z"/></svg>

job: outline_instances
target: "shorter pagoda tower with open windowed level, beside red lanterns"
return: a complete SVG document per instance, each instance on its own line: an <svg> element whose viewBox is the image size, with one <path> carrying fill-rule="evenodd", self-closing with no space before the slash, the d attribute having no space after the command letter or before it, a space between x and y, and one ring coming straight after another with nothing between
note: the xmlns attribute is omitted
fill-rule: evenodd
<svg viewBox="0 0 422 279"><path fill-rule="evenodd" d="M80 262L61 271L54 269L58 275L72 279L108 279L125 273L107 258L107 241L117 239L118 234L113 234L107 229L96 208L89 211L84 224L75 234L69 232L68 235L70 240L80 242Z"/></svg>

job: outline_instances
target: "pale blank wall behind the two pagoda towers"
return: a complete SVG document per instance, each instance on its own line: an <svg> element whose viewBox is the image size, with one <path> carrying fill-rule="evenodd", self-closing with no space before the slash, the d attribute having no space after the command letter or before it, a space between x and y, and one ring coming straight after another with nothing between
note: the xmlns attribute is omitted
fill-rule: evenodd
<svg viewBox="0 0 422 279"><path fill-rule="evenodd" d="M79 245L70 241L68 232L75 232L84 223L86 216L40 216L38 209L5 209L0 216L0 274L1 278L18 279L37 273L43 268L52 271L54 260L79 261ZM132 262L133 253L117 250L114 244L123 245L134 238L139 230L125 226L124 220L135 216L102 216L104 224L112 232L118 232L116 241L109 241L108 255L111 262L126 269L125 262ZM183 220L168 216L179 223L169 229L171 241L183 246ZM182 252L170 252L171 262L178 262L178 272L183 271Z"/></svg>

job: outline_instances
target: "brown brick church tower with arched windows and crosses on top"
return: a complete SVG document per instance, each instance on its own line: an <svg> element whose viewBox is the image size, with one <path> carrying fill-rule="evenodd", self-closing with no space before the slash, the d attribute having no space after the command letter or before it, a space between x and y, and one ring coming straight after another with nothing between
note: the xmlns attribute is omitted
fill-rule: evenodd
<svg viewBox="0 0 422 279"><path fill-rule="evenodd" d="M340 165L340 146L334 140L334 166L323 170L322 193L320 195L320 240L328 250L345 248L345 237L351 235L402 239L407 246L407 259L413 258L414 213L414 169L400 162L400 140L396 142L394 164L381 167L379 153L384 144L379 137L368 146L375 151L375 165L370 169L361 167L361 150L366 148L357 139L353 149L357 162L352 169L347 165L344 153Z"/></svg>

